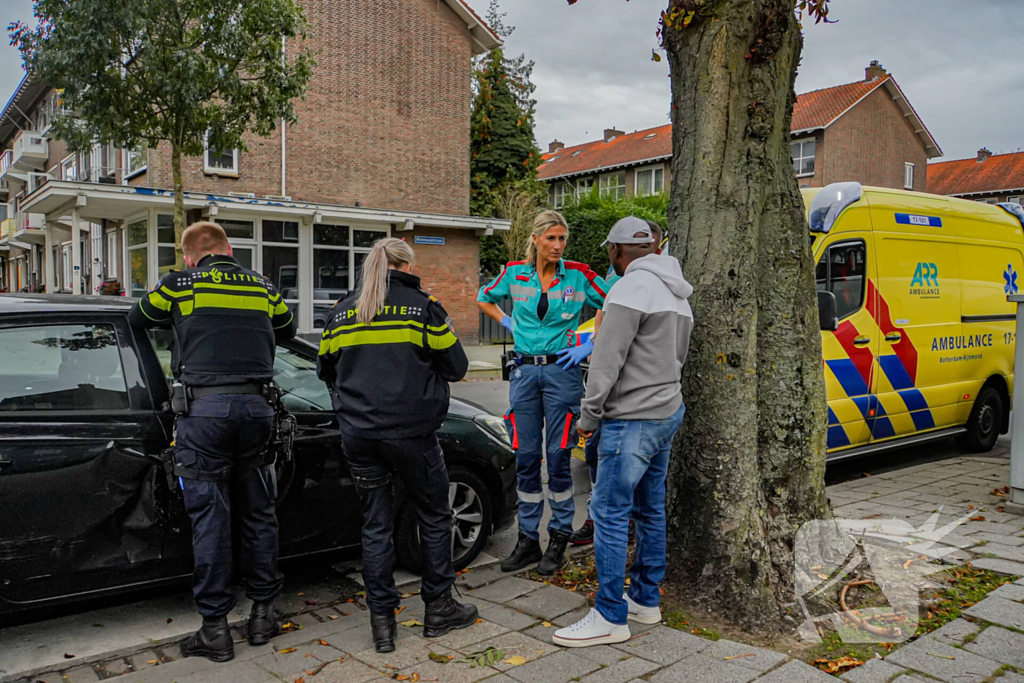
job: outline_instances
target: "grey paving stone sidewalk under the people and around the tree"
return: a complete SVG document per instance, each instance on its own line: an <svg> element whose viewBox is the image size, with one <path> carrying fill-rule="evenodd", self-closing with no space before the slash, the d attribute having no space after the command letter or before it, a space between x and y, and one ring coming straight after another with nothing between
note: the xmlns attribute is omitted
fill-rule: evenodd
<svg viewBox="0 0 1024 683"><path fill-rule="evenodd" d="M1005 458L954 458L856 479L828 490L837 515L857 519L895 516L920 526L940 506L941 523L976 512L984 521L967 522L945 540L957 548L950 561L971 560L976 566L1024 575L1024 517L997 512L1000 499L989 495L1007 480L1008 467ZM294 683L299 679L365 683L384 678L443 683L836 681L779 652L728 640L713 642L663 625L631 624L633 638L614 646L563 649L552 644L552 634L587 613L583 596L502 574L498 567L465 573L459 585L463 599L479 607L480 622L427 640L418 625L423 603L418 597L408 598L399 616L403 624L396 651L386 655L373 649L369 612L359 605L344 604L296 617L300 630L261 647L250 647L236 631L236 659L226 665L181 659L177 646L168 645L59 674L32 676L19 683L82 683L113 677L118 683ZM843 680L980 683L1001 675L999 683L1024 683L1024 580L997 589L965 615L972 621L952 622L885 659L851 671ZM501 650L498 661L489 666L469 663L474 653L488 647Z"/></svg>

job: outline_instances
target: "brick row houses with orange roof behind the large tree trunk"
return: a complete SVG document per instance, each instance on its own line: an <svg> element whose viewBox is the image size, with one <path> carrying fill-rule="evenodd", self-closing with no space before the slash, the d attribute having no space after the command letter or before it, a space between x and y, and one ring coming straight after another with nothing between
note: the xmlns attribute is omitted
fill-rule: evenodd
<svg viewBox="0 0 1024 683"><path fill-rule="evenodd" d="M840 180L925 191L928 160L942 151L913 111L896 80L872 61L864 80L797 97L792 155L801 186ZM548 147L540 177L550 200L590 191L614 197L656 194L671 182L672 126L626 134L604 131L603 139Z"/></svg>

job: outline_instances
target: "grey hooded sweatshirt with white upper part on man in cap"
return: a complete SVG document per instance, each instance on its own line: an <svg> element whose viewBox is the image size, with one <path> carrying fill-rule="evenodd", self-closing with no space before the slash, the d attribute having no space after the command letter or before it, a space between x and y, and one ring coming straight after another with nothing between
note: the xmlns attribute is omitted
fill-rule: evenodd
<svg viewBox="0 0 1024 683"><path fill-rule="evenodd" d="M633 261L608 292L580 429L600 420L664 420L682 405L680 378L693 330L693 287L668 255Z"/></svg>

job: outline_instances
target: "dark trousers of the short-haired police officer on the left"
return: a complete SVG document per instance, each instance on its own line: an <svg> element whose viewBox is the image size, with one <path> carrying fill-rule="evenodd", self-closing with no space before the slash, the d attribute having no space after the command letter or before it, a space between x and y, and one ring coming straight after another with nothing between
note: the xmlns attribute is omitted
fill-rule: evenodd
<svg viewBox="0 0 1024 683"><path fill-rule="evenodd" d="M197 398L178 418L175 462L181 467L223 473L218 481L181 477L193 525L193 595L204 617L225 616L231 594L231 515L241 536L246 595L265 602L281 592L278 572L278 482L269 466L231 472L270 439L273 409L260 395L215 394ZM251 462L251 460L250 460Z"/></svg>

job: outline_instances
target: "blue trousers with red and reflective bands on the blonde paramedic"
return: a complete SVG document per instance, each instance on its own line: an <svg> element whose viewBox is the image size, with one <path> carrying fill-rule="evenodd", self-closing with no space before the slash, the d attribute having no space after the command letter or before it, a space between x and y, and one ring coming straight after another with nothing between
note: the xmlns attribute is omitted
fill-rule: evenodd
<svg viewBox="0 0 1024 683"><path fill-rule="evenodd" d="M583 371L579 367L565 370L557 365L523 365L512 371L511 408L505 426L516 456L519 530L530 539L540 538L544 513L541 462L545 460L545 441L551 506L548 528L572 532L575 507L569 464L578 440L575 424L582 399Z"/></svg>

